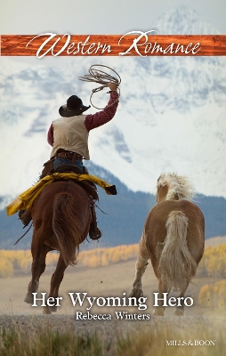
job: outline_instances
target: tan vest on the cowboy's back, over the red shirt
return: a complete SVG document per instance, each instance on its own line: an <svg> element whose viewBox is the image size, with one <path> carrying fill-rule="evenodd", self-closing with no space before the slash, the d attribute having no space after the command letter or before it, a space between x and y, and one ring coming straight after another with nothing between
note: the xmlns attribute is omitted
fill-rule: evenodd
<svg viewBox="0 0 226 356"><path fill-rule="evenodd" d="M88 149L89 133L85 127L86 115L60 117L53 121L53 146L51 158L59 149L76 152L85 159L90 159Z"/></svg>

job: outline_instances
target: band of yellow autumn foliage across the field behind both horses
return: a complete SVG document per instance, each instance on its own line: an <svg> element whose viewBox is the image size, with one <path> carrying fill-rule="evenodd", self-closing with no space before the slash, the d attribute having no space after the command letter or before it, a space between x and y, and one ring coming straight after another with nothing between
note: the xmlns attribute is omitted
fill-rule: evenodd
<svg viewBox="0 0 226 356"><path fill-rule="evenodd" d="M78 255L78 262L86 267L95 268L129 261L135 259L137 255L138 245L121 245L83 251ZM54 266L58 259L59 253L51 252L46 256L46 265ZM2 270L0 278L4 278L12 276L13 271L30 271L32 258L30 250L0 250L0 261ZM198 275L226 279L226 244L206 247L205 254L198 265Z"/></svg>

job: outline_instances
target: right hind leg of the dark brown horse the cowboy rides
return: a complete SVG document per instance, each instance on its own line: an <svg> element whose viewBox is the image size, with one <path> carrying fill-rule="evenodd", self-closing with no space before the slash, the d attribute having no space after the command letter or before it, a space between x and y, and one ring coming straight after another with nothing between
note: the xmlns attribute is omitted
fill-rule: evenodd
<svg viewBox="0 0 226 356"><path fill-rule="evenodd" d="M52 279L51 279L51 287L50 287L50 294L49 297L57 298L58 297L58 292L59 292L59 287L61 285L61 281L64 276L64 271L66 270L67 266L64 263L64 260L62 258L62 255L60 254L59 260L56 266L56 270L52 274ZM46 306L44 307L44 314L51 314L51 312L56 312L57 306Z"/></svg>

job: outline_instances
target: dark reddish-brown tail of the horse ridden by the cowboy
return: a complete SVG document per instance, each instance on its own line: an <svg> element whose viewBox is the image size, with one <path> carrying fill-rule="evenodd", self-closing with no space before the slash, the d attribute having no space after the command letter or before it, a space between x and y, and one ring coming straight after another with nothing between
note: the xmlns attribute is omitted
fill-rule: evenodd
<svg viewBox="0 0 226 356"><path fill-rule="evenodd" d="M82 224L75 214L75 199L70 194L59 194L54 200L52 230L58 240L65 264L77 264L79 244L82 242Z"/></svg>

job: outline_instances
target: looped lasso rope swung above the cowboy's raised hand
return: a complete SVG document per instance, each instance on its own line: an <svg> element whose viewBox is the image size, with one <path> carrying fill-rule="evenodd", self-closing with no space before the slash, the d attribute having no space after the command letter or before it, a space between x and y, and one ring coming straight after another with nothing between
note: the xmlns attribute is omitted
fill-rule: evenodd
<svg viewBox="0 0 226 356"><path fill-rule="evenodd" d="M97 67L108 68L112 70L117 75L117 77L110 76L108 73L104 72L101 69L98 69ZM90 96L91 105L95 109L101 110L104 108L97 108L96 106L93 105L93 101L92 101L93 93L100 92L103 88L108 87L110 82L115 83L117 85L118 98L120 97L119 85L121 84L121 77L117 74L116 70L111 69L110 67L104 66L102 64L93 64L93 66L91 66L89 69L89 74L86 74L84 77L78 77L78 79L84 82L94 82L94 83L101 84L101 86L99 86L98 88L93 89L93 92ZM109 105L109 107L114 105L116 101L114 101L111 105Z"/></svg>

